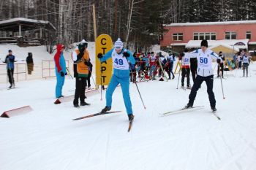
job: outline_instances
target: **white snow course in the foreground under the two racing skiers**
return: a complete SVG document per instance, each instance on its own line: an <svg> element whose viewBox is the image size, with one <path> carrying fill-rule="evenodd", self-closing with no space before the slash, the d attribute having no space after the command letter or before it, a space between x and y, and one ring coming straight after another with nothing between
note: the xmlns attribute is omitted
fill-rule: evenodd
<svg viewBox="0 0 256 170"><path fill-rule="evenodd" d="M0 90L0 112L28 104L34 111L0 118L0 169L255 170L255 73L256 63L250 65L248 78L240 77L241 70L228 72L225 100L220 80L214 79L222 120L211 113L205 83L195 101L204 109L166 117L159 113L188 102L189 90L176 89L178 74L169 82L138 83L146 110L131 84L135 122L130 133L121 88L113 94L113 110L123 112L72 121L98 112L105 99L92 96L86 99L91 106L80 109L73 108L72 101L54 105L55 80L19 82L17 89ZM64 95L74 93L74 83L65 82Z"/></svg>

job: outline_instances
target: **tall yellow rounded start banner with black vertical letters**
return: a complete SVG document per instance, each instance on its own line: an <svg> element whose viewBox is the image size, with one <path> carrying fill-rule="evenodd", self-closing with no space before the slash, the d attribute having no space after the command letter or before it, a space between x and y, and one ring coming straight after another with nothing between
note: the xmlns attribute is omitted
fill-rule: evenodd
<svg viewBox="0 0 256 170"><path fill-rule="evenodd" d="M96 39L96 84L97 85L108 85L112 77L113 72L113 63L112 58L109 58L108 61L100 62L97 58L99 53L105 55L109 50L113 48L113 42L111 37L108 34L101 34Z"/></svg>

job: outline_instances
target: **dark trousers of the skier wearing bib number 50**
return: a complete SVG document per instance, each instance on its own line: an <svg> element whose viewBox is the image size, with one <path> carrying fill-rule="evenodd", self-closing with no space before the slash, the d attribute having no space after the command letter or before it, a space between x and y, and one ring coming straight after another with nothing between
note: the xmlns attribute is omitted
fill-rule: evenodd
<svg viewBox="0 0 256 170"><path fill-rule="evenodd" d="M206 82L207 85L207 93L208 98L211 104L211 107L215 107L216 101L214 96L214 75L208 76L208 77L202 77L200 75L197 75L195 78L195 83L191 89L191 93L189 94L189 104L194 104L195 96L197 96L197 90L200 88L203 81Z"/></svg>

